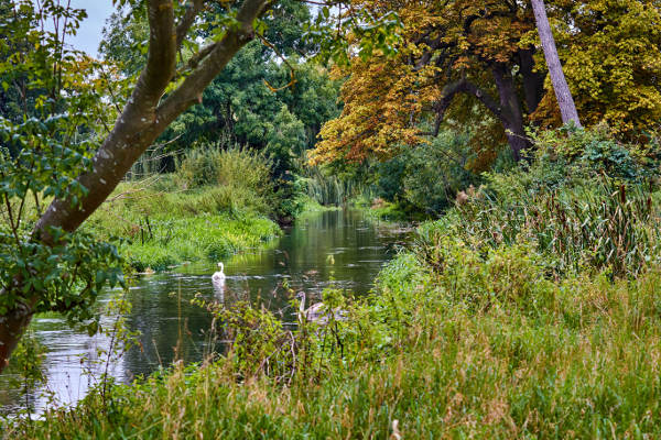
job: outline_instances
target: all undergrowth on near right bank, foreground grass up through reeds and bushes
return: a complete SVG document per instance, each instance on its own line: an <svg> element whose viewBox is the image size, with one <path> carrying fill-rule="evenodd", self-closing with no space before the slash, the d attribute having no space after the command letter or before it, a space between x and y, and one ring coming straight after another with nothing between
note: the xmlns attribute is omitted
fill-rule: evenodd
<svg viewBox="0 0 661 440"><path fill-rule="evenodd" d="M368 298L326 292L346 320L328 312L325 327L290 331L259 307L208 305L234 340L227 356L93 393L4 436L661 436L653 167L598 133L555 136L423 224Z"/></svg>

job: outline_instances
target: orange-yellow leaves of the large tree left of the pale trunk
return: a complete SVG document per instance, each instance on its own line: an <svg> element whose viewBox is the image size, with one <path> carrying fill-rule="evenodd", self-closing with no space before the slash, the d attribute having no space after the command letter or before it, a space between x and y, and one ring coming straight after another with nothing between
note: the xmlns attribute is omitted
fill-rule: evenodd
<svg viewBox="0 0 661 440"><path fill-rule="evenodd" d="M511 13L501 1L357 0L355 6L381 12L395 8L404 23L404 43L397 58L373 56L356 61L349 72L334 73L348 75L342 88L345 107L322 129L313 163L388 157L400 145L419 143L418 122L441 98L452 69L481 77L479 58L508 63L519 50L518 38L531 29L524 14ZM485 9L492 15L485 16ZM415 62L438 56L441 46L447 62Z"/></svg>

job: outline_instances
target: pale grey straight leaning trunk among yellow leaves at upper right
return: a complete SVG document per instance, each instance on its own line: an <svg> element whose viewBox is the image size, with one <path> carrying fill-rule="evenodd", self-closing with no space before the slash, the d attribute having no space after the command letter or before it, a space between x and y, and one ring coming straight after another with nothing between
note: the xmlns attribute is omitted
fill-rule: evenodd
<svg viewBox="0 0 661 440"><path fill-rule="evenodd" d="M570 121L574 121L575 125L581 127L581 120L578 119L578 112L574 105L574 98L570 91L570 86L567 86L562 65L560 64L560 57L557 56L555 40L553 38L551 25L549 24L549 16L546 16L544 1L531 0L531 2L538 32L540 33L540 40L542 41L542 48L544 50L544 57L546 58L546 66L549 67L549 75L551 76L553 90L555 90L555 98L560 106L562 122L568 123Z"/></svg>

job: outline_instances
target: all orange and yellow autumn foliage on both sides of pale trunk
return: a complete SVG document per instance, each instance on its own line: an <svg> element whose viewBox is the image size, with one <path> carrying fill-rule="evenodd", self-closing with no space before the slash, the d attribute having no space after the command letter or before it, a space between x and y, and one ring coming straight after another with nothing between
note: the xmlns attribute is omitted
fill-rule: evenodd
<svg viewBox="0 0 661 440"><path fill-rule="evenodd" d="M477 168L507 141L516 158L525 127L555 127L560 112L528 2L356 0L395 10L394 56L375 53L337 68L344 111L326 123L313 163L390 157L442 124L479 125ZM636 139L661 120L661 8L653 1L546 1L561 61L586 125L606 121ZM488 135L487 135L488 133Z"/></svg>

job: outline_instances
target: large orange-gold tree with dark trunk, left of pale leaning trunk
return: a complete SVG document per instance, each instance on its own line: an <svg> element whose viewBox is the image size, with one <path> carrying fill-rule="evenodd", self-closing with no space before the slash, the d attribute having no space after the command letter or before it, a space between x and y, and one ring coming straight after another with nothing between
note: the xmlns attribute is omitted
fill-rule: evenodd
<svg viewBox="0 0 661 440"><path fill-rule="evenodd" d="M348 76L344 111L322 130L315 161L388 157L397 152L394 145L437 133L446 118L475 121L475 103L501 127L513 156L520 157L530 144L524 119L544 95L544 76L534 69L537 47L521 44L534 30L524 4L362 0L355 7L395 10L403 43L394 57L376 52L342 73ZM453 106L457 101L464 106ZM431 131L421 127L430 119L435 119Z"/></svg>

